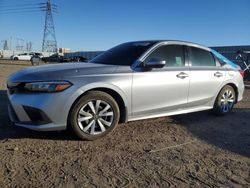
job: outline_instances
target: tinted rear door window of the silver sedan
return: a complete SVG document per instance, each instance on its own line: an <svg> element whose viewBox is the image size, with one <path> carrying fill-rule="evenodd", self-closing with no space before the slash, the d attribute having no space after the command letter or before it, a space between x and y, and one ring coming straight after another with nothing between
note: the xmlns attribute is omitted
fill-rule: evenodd
<svg viewBox="0 0 250 188"><path fill-rule="evenodd" d="M213 55L200 48L189 47L189 59L192 66L216 66Z"/></svg>

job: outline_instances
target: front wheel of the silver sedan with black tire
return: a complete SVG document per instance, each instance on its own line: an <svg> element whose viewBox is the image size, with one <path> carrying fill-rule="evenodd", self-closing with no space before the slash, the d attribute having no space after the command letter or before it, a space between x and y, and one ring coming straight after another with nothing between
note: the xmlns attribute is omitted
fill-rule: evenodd
<svg viewBox="0 0 250 188"><path fill-rule="evenodd" d="M97 105L97 101L101 101L99 102L99 105ZM96 113L93 113L93 110L91 109L91 105L89 105L89 103L92 103L94 105L94 111ZM107 113L105 114L109 115L104 117L105 115L103 112L106 112L104 111L106 108L109 108L109 112L107 110ZM82 113L84 113L84 115ZM79 123L80 118L86 117L91 118L88 120L83 120ZM119 107L113 97L105 92L90 91L87 92L83 97L81 97L72 107L69 114L69 126L79 138L83 140L96 140L110 133L118 124L119 118ZM94 123L92 123L93 121ZM110 125L108 125L107 123L109 123ZM91 127L89 127L90 124ZM92 126L94 127L93 132ZM94 133L95 131L96 133Z"/></svg>

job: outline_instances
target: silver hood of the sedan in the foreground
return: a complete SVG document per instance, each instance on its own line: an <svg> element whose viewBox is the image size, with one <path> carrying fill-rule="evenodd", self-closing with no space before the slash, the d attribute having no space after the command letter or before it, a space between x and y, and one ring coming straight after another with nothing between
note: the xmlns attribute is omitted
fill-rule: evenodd
<svg viewBox="0 0 250 188"><path fill-rule="evenodd" d="M94 63L63 63L29 67L12 74L8 82L67 80L78 75L111 74L118 66Z"/></svg>

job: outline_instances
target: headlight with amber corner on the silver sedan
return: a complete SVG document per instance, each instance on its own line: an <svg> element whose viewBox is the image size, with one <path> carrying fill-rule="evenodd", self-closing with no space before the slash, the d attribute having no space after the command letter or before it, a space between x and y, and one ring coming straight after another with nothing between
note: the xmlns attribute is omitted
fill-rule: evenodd
<svg viewBox="0 0 250 188"><path fill-rule="evenodd" d="M26 83L24 89L31 92L59 92L69 88L72 84L66 81L32 82Z"/></svg>

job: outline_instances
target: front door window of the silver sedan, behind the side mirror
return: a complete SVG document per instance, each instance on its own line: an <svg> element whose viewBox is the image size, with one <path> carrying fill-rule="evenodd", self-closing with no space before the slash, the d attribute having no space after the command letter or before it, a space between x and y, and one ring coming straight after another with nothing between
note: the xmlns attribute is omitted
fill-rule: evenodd
<svg viewBox="0 0 250 188"><path fill-rule="evenodd" d="M165 45L154 50L144 61L145 64L151 59L166 61L167 67L185 66L184 48L182 45Z"/></svg>

